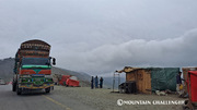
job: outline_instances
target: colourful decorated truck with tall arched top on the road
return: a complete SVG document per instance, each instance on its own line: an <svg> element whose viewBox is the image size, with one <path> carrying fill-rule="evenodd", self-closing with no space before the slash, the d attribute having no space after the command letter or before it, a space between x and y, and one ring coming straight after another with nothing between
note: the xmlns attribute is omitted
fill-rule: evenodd
<svg viewBox="0 0 197 110"><path fill-rule="evenodd" d="M43 40L34 39L21 44L15 53L14 76L12 90L21 95L25 90L54 89L51 77L51 62L56 59L49 57L50 45Z"/></svg>

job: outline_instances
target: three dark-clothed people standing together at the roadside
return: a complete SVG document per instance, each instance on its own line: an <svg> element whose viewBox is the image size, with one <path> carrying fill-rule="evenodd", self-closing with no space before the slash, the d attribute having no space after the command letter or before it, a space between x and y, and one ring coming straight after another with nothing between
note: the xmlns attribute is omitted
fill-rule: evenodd
<svg viewBox="0 0 197 110"><path fill-rule="evenodd" d="M95 86L95 88L99 88L99 85L100 85L100 88L103 88L103 81L104 81L103 77L101 77L100 82L99 82L97 75L95 76L95 78L94 78L94 76L92 76L91 88L93 89L94 86Z"/></svg>

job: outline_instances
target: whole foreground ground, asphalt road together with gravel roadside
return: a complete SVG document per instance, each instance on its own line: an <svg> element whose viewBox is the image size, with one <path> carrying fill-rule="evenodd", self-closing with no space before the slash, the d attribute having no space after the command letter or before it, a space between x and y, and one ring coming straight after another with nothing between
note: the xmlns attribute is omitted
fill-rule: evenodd
<svg viewBox="0 0 197 110"><path fill-rule="evenodd" d="M12 85L0 85L0 110L182 110L182 105L118 105L118 100L185 100L177 95L117 94L112 89L65 86L55 86L50 94L32 91L18 96L11 88Z"/></svg>

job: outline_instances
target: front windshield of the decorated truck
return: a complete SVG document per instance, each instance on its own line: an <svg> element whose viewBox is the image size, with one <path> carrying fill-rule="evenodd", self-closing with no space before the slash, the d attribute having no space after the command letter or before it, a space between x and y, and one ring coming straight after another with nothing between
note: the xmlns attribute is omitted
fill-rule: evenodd
<svg viewBox="0 0 197 110"><path fill-rule="evenodd" d="M22 65L50 65L48 58L23 58Z"/></svg>

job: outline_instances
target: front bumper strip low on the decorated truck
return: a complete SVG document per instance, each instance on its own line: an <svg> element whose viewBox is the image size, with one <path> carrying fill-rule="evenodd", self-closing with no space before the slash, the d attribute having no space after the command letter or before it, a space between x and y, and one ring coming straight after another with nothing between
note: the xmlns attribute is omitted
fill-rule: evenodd
<svg viewBox="0 0 197 110"><path fill-rule="evenodd" d="M54 89L54 84L43 84L43 85L19 85L19 88L27 88L27 89L42 89L42 88L51 88Z"/></svg>

